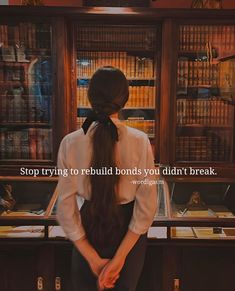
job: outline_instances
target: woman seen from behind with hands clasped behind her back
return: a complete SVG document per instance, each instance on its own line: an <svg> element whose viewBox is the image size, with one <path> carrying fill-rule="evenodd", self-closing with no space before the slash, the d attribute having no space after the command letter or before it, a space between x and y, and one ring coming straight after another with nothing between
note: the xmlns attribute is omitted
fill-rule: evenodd
<svg viewBox="0 0 235 291"><path fill-rule="evenodd" d="M154 179L144 174L154 168L147 135L116 118L128 96L119 69L98 69L88 89L92 111L60 145L58 167L70 169L57 188L58 221L74 243L69 290L134 291L141 273L156 186L142 181ZM85 200L80 210L77 197Z"/></svg>

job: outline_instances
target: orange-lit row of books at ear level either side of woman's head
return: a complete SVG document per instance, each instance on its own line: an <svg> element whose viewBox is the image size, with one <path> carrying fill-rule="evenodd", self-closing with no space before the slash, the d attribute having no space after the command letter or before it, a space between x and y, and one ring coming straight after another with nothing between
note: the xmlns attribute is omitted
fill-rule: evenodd
<svg viewBox="0 0 235 291"><path fill-rule="evenodd" d="M77 88L77 104L78 107L90 107L87 98L88 88L79 86ZM155 107L155 87L153 86L129 86L129 100L125 107Z"/></svg>

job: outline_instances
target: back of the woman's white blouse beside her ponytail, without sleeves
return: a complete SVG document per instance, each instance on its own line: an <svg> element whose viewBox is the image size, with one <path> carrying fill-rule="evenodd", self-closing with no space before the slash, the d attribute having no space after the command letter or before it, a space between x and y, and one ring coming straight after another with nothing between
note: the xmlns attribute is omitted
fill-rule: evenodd
<svg viewBox="0 0 235 291"><path fill-rule="evenodd" d="M112 118L112 120L118 128L119 135L119 140L116 143L117 167L115 169L102 167L95 170L90 166L92 132L95 123L92 124L86 135L82 129L68 134L62 142L61 150L69 153L67 162L71 168L71 173L73 173L72 179L76 183L77 192L81 197L90 199L90 175L96 173L118 175L120 173L117 195L118 202L123 204L134 199L138 186L136 181L143 180L144 168L149 166L152 168L153 161L151 165L147 165L144 157L149 147L147 135L140 130L125 126L116 118Z"/></svg>

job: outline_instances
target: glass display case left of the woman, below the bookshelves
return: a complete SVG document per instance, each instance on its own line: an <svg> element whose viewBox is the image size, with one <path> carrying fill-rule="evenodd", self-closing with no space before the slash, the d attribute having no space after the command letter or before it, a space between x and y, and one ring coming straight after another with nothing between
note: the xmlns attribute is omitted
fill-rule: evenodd
<svg viewBox="0 0 235 291"><path fill-rule="evenodd" d="M0 176L0 239L44 237L56 184L56 178Z"/></svg>

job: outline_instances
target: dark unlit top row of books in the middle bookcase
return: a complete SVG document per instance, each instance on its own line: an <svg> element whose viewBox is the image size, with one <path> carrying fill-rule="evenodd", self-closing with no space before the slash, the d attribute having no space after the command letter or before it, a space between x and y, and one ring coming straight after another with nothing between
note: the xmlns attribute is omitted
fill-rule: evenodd
<svg viewBox="0 0 235 291"><path fill-rule="evenodd" d="M156 27L137 25L79 25L77 47L83 49L155 50Z"/></svg>

